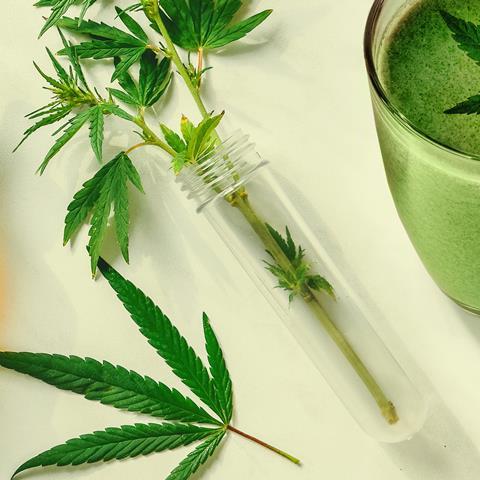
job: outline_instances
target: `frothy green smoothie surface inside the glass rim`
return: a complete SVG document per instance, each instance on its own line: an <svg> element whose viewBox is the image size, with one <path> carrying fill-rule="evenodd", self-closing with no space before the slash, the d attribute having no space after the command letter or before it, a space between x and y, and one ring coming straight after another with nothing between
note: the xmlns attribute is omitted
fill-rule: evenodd
<svg viewBox="0 0 480 480"><path fill-rule="evenodd" d="M422 132L480 154L480 115L443 112L480 93L480 65L460 50L439 11L480 23L480 0L419 0L390 27L380 78L390 100Z"/></svg>

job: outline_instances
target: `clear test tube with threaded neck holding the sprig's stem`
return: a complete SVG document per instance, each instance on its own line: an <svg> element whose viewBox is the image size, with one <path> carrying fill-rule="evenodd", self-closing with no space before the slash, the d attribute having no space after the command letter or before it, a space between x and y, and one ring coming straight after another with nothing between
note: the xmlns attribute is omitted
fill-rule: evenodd
<svg viewBox="0 0 480 480"><path fill-rule="evenodd" d="M363 429L386 442L420 430L426 403L372 328L367 302L351 284L353 272L337 268L325 248L332 242L315 238L249 137L234 133L178 181ZM335 300L307 291L289 303L288 293L275 288L264 263L271 261L266 250L274 250L266 221L283 234L288 226L312 273L335 288Z"/></svg>

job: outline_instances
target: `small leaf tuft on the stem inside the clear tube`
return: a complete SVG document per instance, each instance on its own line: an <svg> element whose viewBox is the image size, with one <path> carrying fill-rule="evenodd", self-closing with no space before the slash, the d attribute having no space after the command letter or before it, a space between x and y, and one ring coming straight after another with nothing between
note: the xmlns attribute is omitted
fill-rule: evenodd
<svg viewBox="0 0 480 480"><path fill-rule="evenodd" d="M287 268L278 261L273 252L267 251L274 260L274 263L265 262L267 270L277 277L278 288L290 292L290 301L296 295L305 292L306 289L325 291L328 295L335 298L332 285L324 277L310 274L311 265L305 260L305 250L300 245L297 246L295 244L288 227L285 228L286 236L284 238L271 225L266 224L266 226L275 243L280 247L283 255L289 262Z"/></svg>

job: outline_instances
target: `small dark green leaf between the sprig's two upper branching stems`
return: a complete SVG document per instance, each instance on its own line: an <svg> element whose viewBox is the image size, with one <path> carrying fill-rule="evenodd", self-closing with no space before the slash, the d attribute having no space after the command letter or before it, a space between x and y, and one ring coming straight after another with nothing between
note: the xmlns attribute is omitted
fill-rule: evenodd
<svg viewBox="0 0 480 480"><path fill-rule="evenodd" d="M115 63L119 63L119 59ZM164 58L160 63L151 50L146 50L140 59L138 85L128 72L118 77L122 90L109 88L109 92L118 100L139 108L152 107L166 92L172 74L170 60Z"/></svg>

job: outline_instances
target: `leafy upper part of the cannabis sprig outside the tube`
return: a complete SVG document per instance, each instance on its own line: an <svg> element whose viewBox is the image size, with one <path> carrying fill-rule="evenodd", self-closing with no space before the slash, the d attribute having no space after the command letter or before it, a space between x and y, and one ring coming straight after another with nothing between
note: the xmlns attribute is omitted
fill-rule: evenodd
<svg viewBox="0 0 480 480"><path fill-rule="evenodd" d="M143 144L160 147L171 155L171 166L177 174L185 165L200 164L208 159L217 144L215 129L223 114L207 115L202 111L204 119L198 125L193 125L184 118L181 135L161 125L165 137L163 140L147 124L145 109L153 107L165 95L173 78L171 63L175 64L184 80L191 83L190 90L197 92L202 75L209 67L203 68L201 58L195 67L190 61L190 54L188 63L184 64L170 39L163 39L168 47L161 42L158 45L158 41L157 44L150 41L145 30L131 15L133 12L143 11L157 32L163 18L168 27L163 29L165 36L168 37L167 31L170 30L173 40L179 45L187 50L201 49L203 55L203 50L218 48L242 38L263 22L271 11L266 10L246 20L236 21L234 18L238 17L243 3L240 0L162 0L160 3L156 0L142 0L124 9L114 6L116 17L122 23L119 27L85 18L86 12L95 1L39 0L36 3L39 7L51 9L42 33L54 25L58 28L63 43L58 54L67 57L69 62L68 68L63 67L48 51L56 75L46 75L36 67L47 82L47 88L52 91L53 99L28 115L32 125L25 131L22 142L42 127L58 125L53 134L53 145L41 162L39 172L43 173L52 158L82 129L86 131L87 128L92 151L102 163L107 127L105 117L108 115L118 116L140 127L141 130L136 133L144 140ZM65 16L72 11L70 7L76 6L81 7L78 17ZM65 38L64 32L80 35L81 39L74 44ZM162 54L164 58L159 58ZM96 88L91 88L87 83L81 62L88 59L113 61L112 82L118 83L106 88L108 98L103 98ZM138 76L132 68L137 64ZM136 112L128 113L117 102L133 107ZM197 104L201 103L202 100L197 99ZM134 145L132 148L141 145ZM84 184L68 207L64 242L68 243L78 228L87 220L90 221L88 246L92 272L96 270L112 208L116 237L122 255L128 261L129 210L126 187L128 182L125 176L127 163L131 165L130 160L127 162L113 159ZM116 168L111 168L112 164L115 164ZM134 171L133 165L127 169ZM131 178L130 181L133 182ZM141 189L139 179L137 186Z"/></svg>

